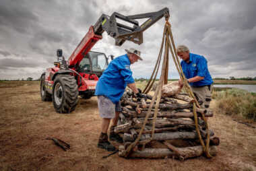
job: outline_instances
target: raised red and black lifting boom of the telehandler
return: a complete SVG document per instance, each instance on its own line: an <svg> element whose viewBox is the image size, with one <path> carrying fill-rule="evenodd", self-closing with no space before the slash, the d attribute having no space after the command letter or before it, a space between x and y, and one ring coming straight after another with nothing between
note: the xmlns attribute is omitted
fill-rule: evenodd
<svg viewBox="0 0 256 171"><path fill-rule="evenodd" d="M69 57L69 68L76 68L80 61L84 58L91 48L102 38L102 33L106 31L108 35L115 38L115 44L121 46L125 40L129 40L136 44L143 43L143 31L152 26L160 18L169 18L169 9L164 8L160 11L152 13L142 13L137 15L122 15L120 13L113 13L111 16L102 14L99 20L89 28L88 33L77 48ZM146 22L139 25L137 19L148 18Z"/></svg>

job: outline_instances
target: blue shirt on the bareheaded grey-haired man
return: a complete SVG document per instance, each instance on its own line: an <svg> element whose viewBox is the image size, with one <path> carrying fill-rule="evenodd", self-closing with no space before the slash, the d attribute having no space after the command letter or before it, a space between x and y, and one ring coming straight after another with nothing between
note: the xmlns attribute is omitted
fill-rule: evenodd
<svg viewBox="0 0 256 171"><path fill-rule="evenodd" d="M181 61L181 67L187 79L195 76L204 77L200 81L189 83L190 86L193 86L193 87L207 86L207 85L211 85L214 82L212 80L210 72L208 71L207 61L201 55L189 53L189 63L186 63L185 61Z"/></svg>

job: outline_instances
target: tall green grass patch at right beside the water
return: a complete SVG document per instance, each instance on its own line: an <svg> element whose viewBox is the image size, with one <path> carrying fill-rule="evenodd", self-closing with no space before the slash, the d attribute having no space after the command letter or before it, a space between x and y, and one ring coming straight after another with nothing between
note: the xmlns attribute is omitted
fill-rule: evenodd
<svg viewBox="0 0 256 171"><path fill-rule="evenodd" d="M238 115L256 121L256 94L245 90L230 89L214 92L218 113Z"/></svg>

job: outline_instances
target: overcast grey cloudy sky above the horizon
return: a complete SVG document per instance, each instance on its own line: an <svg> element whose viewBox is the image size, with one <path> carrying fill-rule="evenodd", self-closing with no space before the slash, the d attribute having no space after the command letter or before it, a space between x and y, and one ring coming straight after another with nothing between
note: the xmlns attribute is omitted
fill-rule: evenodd
<svg viewBox="0 0 256 171"><path fill-rule="evenodd" d="M255 0L0 0L0 79L38 79L53 67L57 48L68 59L102 13L133 15L164 7L170 10L175 44L203 55L212 77L256 76ZM140 46L131 42L115 46L104 33L92 50L119 56L125 48L138 48L143 61L131 66L133 76L150 77L163 28L164 18L143 33ZM172 61L169 77L178 77Z"/></svg>

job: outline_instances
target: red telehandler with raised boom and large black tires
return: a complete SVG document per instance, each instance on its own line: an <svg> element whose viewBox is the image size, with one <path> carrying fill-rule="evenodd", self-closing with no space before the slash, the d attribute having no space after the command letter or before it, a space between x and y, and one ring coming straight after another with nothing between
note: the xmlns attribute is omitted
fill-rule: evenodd
<svg viewBox="0 0 256 171"><path fill-rule="evenodd" d="M53 100L53 106L59 113L69 113L75 110L78 96L82 98L94 96L98 78L108 65L108 59L104 53L90 51L94 44L102 39L102 33L106 32L115 38L117 46L121 46L126 40L141 44L143 31L160 18L168 19L169 16L168 8L129 16L116 12L110 16L102 14L96 24L89 28L88 33L75 48L68 61L65 61L62 50L57 50L55 67L46 69L40 77L42 101ZM148 18L148 20L139 25L137 19L143 18Z"/></svg>

